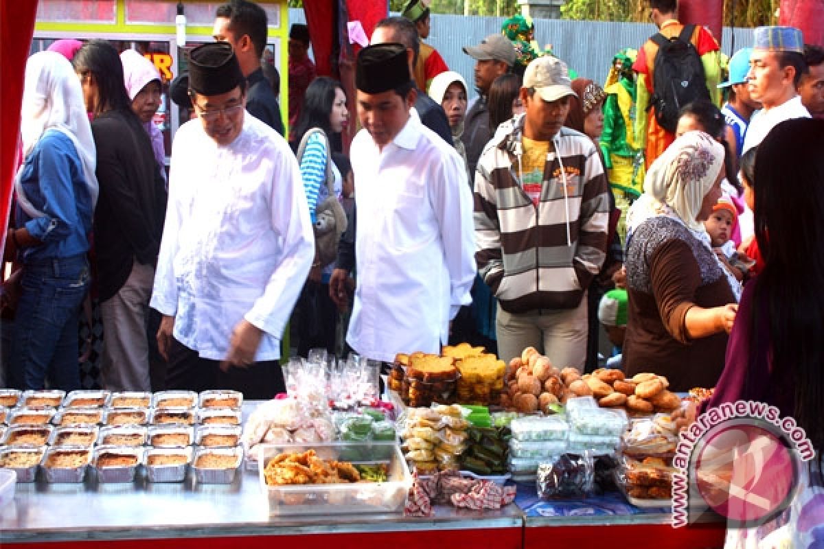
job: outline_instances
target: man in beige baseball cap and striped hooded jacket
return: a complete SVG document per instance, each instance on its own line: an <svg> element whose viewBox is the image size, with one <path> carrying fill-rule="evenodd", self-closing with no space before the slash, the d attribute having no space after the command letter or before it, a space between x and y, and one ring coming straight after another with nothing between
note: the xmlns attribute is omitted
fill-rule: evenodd
<svg viewBox="0 0 824 549"><path fill-rule="evenodd" d="M563 123L575 95L563 61L527 66L527 112L489 142L475 172L475 261L498 298L498 354L529 346L583 370L587 287L606 257L609 196L592 141Z"/></svg>

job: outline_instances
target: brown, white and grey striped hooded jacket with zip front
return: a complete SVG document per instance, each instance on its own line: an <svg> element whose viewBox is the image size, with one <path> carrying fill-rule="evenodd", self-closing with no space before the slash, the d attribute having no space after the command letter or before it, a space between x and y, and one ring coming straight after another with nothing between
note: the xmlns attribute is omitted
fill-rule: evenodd
<svg viewBox="0 0 824 549"><path fill-rule="evenodd" d="M509 313L572 309L606 257L606 175L592 141L561 128L536 207L519 176L524 118L499 128L478 161L475 261Z"/></svg>

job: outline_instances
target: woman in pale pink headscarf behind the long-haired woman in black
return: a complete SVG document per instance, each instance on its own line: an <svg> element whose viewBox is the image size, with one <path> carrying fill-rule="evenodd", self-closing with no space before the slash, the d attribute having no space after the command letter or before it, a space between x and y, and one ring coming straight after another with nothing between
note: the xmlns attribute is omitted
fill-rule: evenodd
<svg viewBox="0 0 824 549"><path fill-rule="evenodd" d="M132 100L132 110L143 123L143 128L152 140L152 151L166 179L166 149L163 147L163 133L152 120L160 109L162 83L157 67L143 55L133 49L126 49L120 54L123 63L123 81L126 93Z"/></svg>

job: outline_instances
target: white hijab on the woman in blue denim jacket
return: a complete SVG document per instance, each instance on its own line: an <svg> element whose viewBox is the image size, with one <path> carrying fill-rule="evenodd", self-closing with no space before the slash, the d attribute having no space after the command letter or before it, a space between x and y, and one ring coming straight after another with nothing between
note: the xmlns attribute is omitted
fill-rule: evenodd
<svg viewBox="0 0 824 549"><path fill-rule="evenodd" d="M20 133L23 155L29 156L47 130L68 136L83 165L92 207L97 203L99 187L95 175L97 153L91 137L91 124L83 102L80 79L72 63L57 52L38 52L26 61L23 85ZM43 212L31 205L20 183L21 169L15 178L17 203L31 217Z"/></svg>

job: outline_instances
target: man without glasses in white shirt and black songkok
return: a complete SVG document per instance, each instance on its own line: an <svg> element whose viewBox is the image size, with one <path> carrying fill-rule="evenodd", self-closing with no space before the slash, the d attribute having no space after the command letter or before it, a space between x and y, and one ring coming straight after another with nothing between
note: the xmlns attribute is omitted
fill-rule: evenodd
<svg viewBox="0 0 824 549"><path fill-rule="evenodd" d="M416 92L402 44L361 50L355 85L364 129L350 151L358 282L347 342L386 362L399 352L438 353L450 321L470 304L475 279L466 169L412 109ZM348 274L332 274L337 302Z"/></svg>

